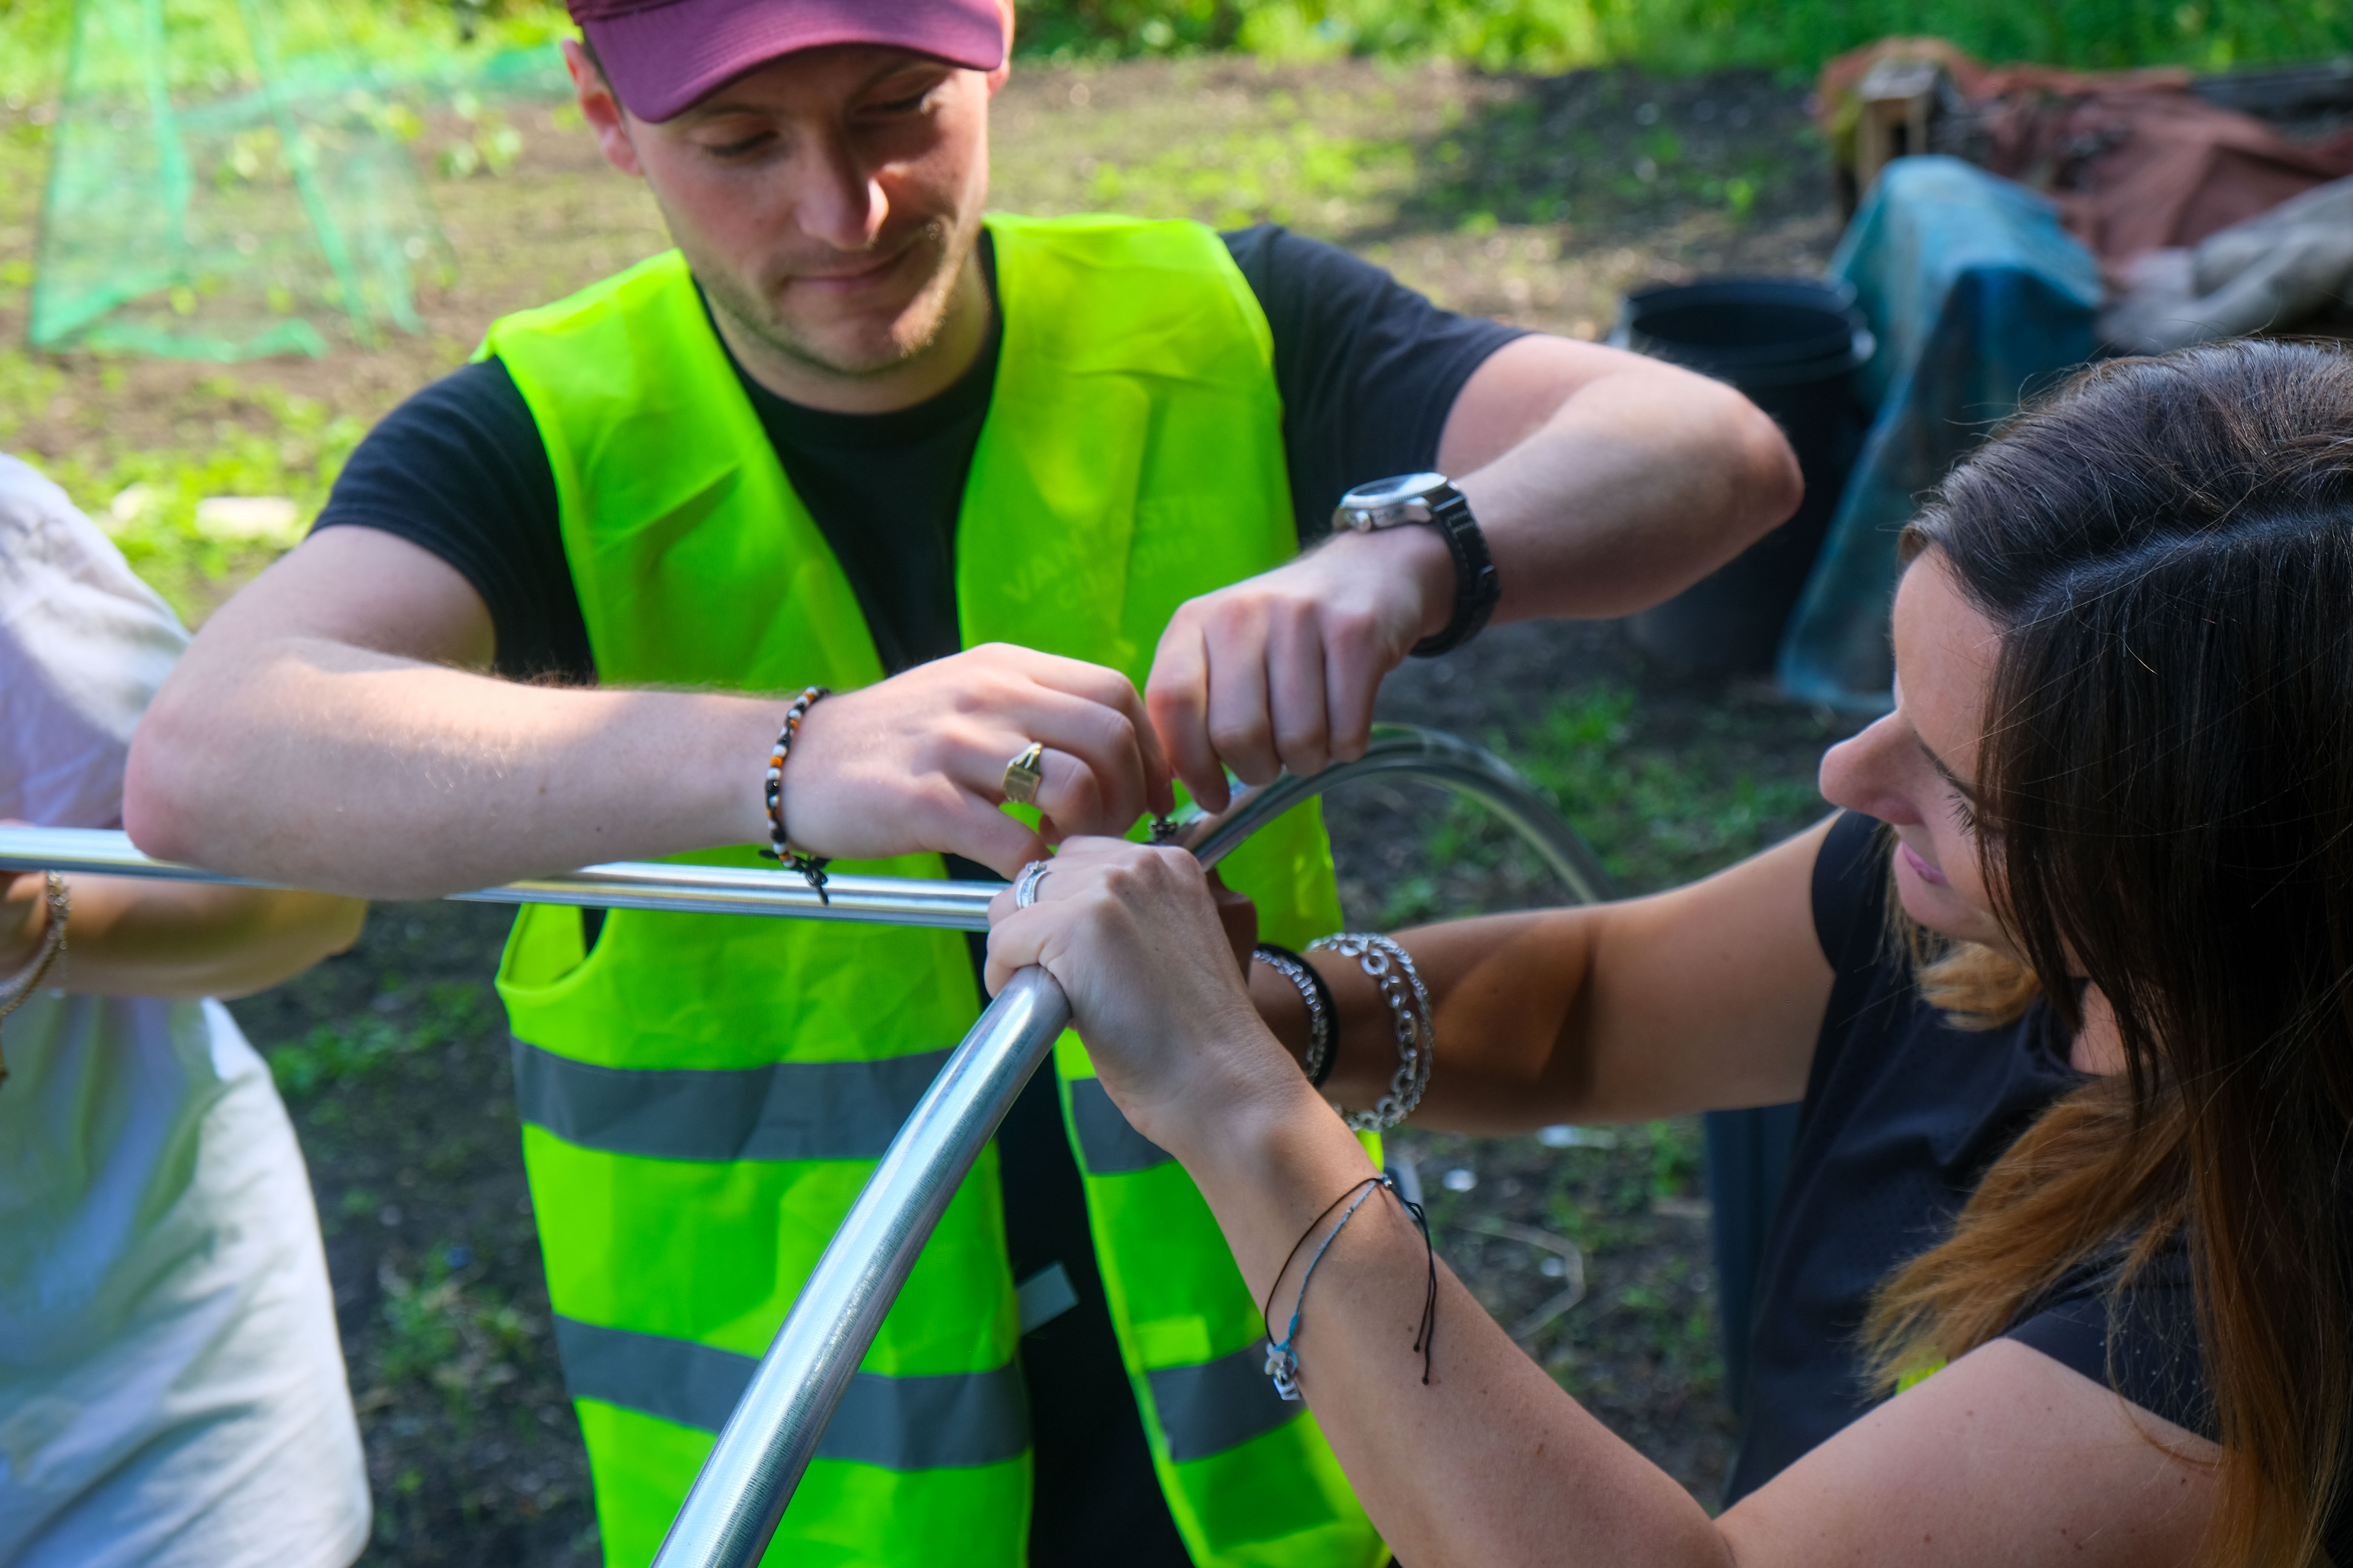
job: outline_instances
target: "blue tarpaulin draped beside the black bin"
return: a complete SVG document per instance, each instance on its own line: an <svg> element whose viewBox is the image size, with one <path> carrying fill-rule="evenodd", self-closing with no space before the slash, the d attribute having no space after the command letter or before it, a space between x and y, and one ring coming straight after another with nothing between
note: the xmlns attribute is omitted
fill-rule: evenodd
<svg viewBox="0 0 2353 1568"><path fill-rule="evenodd" d="M1897 534L2024 397L2089 360L2099 263L2049 202L1958 158L1889 162L1831 256L1878 334L1878 414L1781 637L1781 689L1887 708Z"/></svg>

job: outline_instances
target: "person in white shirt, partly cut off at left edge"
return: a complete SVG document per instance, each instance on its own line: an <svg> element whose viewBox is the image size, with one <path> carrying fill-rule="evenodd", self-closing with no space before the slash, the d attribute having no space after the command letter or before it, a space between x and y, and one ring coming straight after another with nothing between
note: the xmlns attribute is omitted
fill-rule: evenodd
<svg viewBox="0 0 2353 1568"><path fill-rule="evenodd" d="M188 635L0 456L0 818L113 827ZM341 952L365 905L71 877L0 1020L0 1568L344 1568L369 1500L311 1180L212 997ZM0 997L52 938L0 872ZM19 985L9 985L9 980Z"/></svg>

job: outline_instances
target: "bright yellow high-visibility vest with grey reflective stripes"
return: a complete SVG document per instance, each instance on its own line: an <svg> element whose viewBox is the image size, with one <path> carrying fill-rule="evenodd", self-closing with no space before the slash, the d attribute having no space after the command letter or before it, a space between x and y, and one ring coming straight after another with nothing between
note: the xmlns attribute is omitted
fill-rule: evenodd
<svg viewBox="0 0 2353 1568"><path fill-rule="evenodd" d="M965 644L1141 682L1179 604L1297 550L1266 317L1193 223L991 219L991 233L1005 339L958 515ZM600 679L882 679L678 254L496 322L482 353L546 442ZM753 846L687 858L762 865ZM939 856L840 870L944 875ZM1313 809L1257 835L1226 875L1273 940L1339 926ZM584 952L579 914L560 907L520 914L499 990L605 1556L645 1563L981 999L951 931L614 910ZM1200 1192L1127 1126L1075 1037L1054 1060L1120 1354L1193 1561L1386 1561L1315 1418L1268 1387L1257 1302ZM1028 1509L991 1147L767 1561L1021 1568Z"/></svg>

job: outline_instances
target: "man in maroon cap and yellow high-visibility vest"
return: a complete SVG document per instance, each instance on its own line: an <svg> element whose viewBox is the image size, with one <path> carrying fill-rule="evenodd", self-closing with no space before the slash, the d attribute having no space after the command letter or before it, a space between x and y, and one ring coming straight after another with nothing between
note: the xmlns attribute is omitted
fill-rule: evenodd
<svg viewBox="0 0 2353 1568"><path fill-rule="evenodd" d="M678 249L494 322L369 435L139 731L151 853L372 898L767 846L1012 875L1172 780L1351 757L1417 644L1626 614L1795 505L1737 393L1332 247L984 219L1007 0L574 16ZM1358 510L1400 527L1322 541L1398 473ZM1228 875L1278 940L1339 922L1313 813ZM499 983L605 1554L645 1563L981 997L953 933L555 907ZM769 1561L1386 1561L1261 1359L1198 1192L1064 1041Z"/></svg>

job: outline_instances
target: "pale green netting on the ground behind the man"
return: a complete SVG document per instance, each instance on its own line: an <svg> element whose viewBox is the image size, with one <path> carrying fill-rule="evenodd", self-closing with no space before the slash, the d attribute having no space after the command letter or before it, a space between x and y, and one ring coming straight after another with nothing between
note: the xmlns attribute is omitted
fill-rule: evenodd
<svg viewBox="0 0 2353 1568"><path fill-rule="evenodd" d="M320 0L78 0L26 336L249 360L419 331L452 254L402 143L461 94L560 87L553 49L360 61Z"/></svg>

